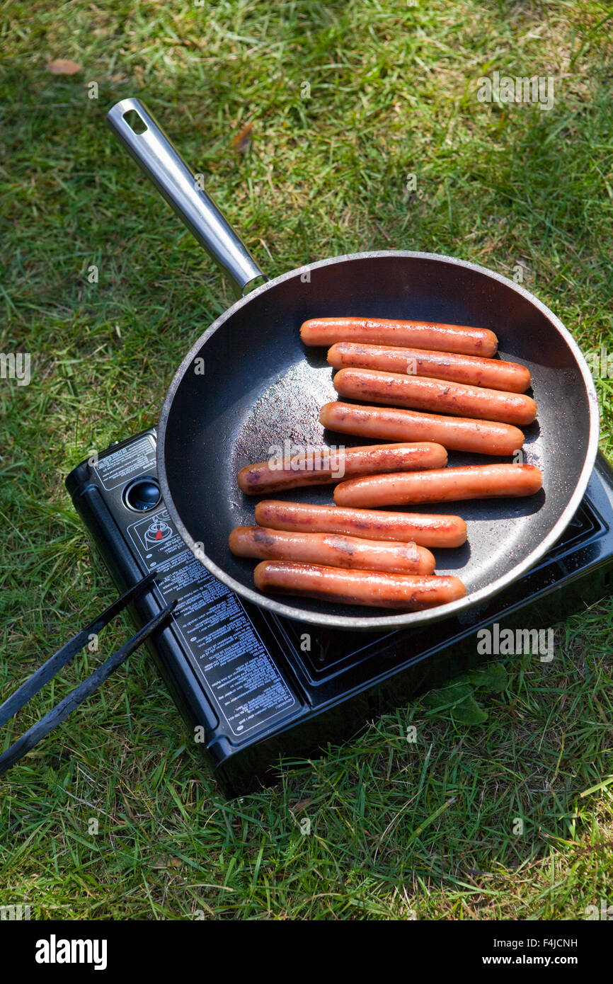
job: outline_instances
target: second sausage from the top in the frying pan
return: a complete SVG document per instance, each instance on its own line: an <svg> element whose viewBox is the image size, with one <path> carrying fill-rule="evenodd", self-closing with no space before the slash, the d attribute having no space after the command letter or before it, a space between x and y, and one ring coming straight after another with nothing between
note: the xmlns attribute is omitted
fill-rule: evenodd
<svg viewBox="0 0 613 984"><path fill-rule="evenodd" d="M382 369L384 372L432 376L452 383L487 386L491 390L524 393L530 386L530 373L519 362L484 359L456 352L429 352L424 348L392 348L367 345L359 341L338 341L328 352L335 369Z"/></svg>

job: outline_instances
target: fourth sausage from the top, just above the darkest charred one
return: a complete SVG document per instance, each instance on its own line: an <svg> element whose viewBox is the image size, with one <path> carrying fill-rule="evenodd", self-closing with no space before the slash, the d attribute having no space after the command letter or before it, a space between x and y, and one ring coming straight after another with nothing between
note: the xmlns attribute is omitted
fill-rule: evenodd
<svg viewBox="0 0 613 984"><path fill-rule="evenodd" d="M330 430L386 441L436 441L450 451L481 455L513 455L523 444L523 432L511 424L470 417L446 417L392 406L326 403L320 421Z"/></svg>

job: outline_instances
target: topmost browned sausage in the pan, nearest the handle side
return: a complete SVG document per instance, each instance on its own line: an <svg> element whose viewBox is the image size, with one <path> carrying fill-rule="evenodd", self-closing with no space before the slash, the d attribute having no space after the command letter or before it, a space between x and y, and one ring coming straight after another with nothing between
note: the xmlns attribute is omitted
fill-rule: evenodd
<svg viewBox="0 0 613 984"><path fill-rule="evenodd" d="M495 355L498 349L498 338L485 328L389 318L310 318L302 324L300 338L305 345L370 341L376 345L409 345L486 357Z"/></svg>

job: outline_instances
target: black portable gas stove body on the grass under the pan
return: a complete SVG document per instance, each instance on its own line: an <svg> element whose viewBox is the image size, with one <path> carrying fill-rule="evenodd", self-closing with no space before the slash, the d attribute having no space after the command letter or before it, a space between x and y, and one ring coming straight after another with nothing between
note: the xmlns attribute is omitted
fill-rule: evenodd
<svg viewBox="0 0 613 984"><path fill-rule="evenodd" d="M611 589L613 471L601 456L573 522L519 582L459 618L383 635L279 619L218 582L159 499L154 428L83 461L66 485L121 591L156 571L137 624L177 599L148 645L227 795L275 781L279 757L318 755L489 658L479 630L550 628Z"/></svg>

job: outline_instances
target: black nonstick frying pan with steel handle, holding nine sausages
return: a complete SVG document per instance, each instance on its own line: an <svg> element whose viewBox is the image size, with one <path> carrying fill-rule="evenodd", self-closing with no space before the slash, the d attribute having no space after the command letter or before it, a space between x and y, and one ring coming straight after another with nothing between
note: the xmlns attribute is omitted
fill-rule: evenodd
<svg viewBox="0 0 613 984"><path fill-rule="evenodd" d="M276 614L336 629L422 625L488 601L553 546L573 518L598 443L594 385L559 319L518 283L472 263L432 253L384 250L318 261L261 282L259 267L139 99L117 103L108 122L166 201L233 281L239 299L194 343L164 401L157 470L164 504L194 554L240 597ZM141 132L137 132L141 131ZM259 283L259 285L257 285ZM493 330L500 357L532 375L537 420L525 428L524 461L539 465L543 489L526 499L446 503L426 512L467 521L468 543L435 551L438 574L466 587L458 601L391 614L323 601L266 595L255 562L233 557L233 526L254 523L255 501L236 474L288 440L298 446L358 445L325 432L323 403L337 399L326 351L307 349L299 328L332 315L418 319ZM451 465L498 459L450 453ZM330 487L272 498L332 503Z"/></svg>

